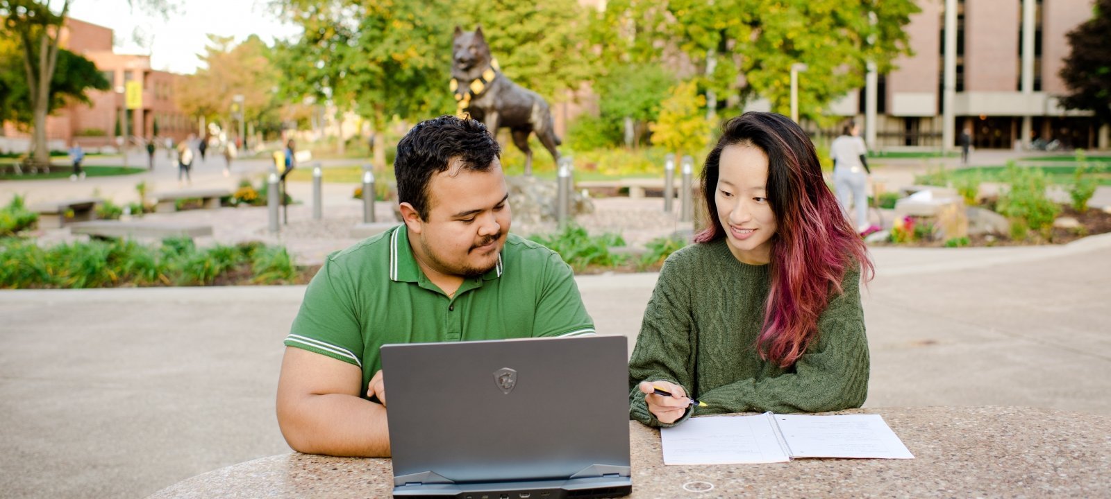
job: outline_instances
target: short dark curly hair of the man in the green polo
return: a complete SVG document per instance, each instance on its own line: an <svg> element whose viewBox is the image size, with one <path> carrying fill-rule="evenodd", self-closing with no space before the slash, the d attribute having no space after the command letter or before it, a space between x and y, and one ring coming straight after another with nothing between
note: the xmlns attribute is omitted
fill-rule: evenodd
<svg viewBox="0 0 1111 499"><path fill-rule="evenodd" d="M460 171L486 172L494 157L501 157L501 145L480 121L443 115L417 123L398 143L393 160L398 203L411 204L427 221L432 175L447 171L453 159L460 160Z"/></svg>

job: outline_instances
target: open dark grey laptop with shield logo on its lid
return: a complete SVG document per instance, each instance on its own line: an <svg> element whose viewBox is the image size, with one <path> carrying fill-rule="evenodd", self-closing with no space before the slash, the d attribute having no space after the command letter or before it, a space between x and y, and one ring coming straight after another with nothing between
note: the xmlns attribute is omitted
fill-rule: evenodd
<svg viewBox="0 0 1111 499"><path fill-rule="evenodd" d="M393 497L629 495L623 336L386 345Z"/></svg>

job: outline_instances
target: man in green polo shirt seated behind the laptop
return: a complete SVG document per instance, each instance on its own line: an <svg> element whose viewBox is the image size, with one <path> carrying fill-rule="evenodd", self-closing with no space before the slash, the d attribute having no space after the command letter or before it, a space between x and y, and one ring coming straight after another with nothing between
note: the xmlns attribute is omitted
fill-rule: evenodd
<svg viewBox="0 0 1111 499"><path fill-rule="evenodd" d="M500 154L454 116L398 144L404 224L329 255L286 338L278 424L294 450L390 455L382 345L594 333L571 268L509 233Z"/></svg>

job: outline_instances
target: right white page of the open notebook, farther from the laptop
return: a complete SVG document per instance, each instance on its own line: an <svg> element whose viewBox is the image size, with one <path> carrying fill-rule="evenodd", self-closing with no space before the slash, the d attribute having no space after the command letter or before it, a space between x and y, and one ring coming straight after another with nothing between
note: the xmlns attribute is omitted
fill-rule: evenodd
<svg viewBox="0 0 1111 499"><path fill-rule="evenodd" d="M913 459L878 414L775 415L794 458Z"/></svg>

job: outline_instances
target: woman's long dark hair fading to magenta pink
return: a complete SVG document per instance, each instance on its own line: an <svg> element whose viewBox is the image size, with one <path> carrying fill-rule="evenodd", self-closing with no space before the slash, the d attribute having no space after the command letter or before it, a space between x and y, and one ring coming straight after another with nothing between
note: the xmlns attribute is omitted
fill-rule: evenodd
<svg viewBox="0 0 1111 499"><path fill-rule="evenodd" d="M709 226L698 243L725 237L718 218L721 152L729 145L751 145L768 155L768 202L775 215L772 236L771 289L763 330L757 339L760 356L789 367L818 335L818 316L841 281L860 265L865 281L874 275L864 242L844 216L822 179L814 144L787 116L748 112L722 125L721 139L702 169L702 196Z"/></svg>

